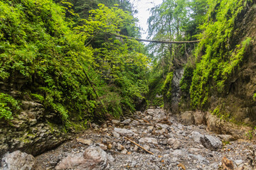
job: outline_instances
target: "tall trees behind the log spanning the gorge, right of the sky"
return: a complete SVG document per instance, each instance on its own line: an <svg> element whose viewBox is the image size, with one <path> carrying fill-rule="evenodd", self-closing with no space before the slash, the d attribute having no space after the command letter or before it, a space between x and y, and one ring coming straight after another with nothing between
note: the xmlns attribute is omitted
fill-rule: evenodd
<svg viewBox="0 0 256 170"><path fill-rule="evenodd" d="M164 0L159 6L151 8L151 16L148 20L149 38L168 41L194 40L193 35L198 33L197 27L203 23L206 10L207 2L202 0ZM149 54L154 62L153 70L161 70L163 80L160 81L161 78L159 77L158 82L163 84L164 77L167 77L167 74L173 72L174 69L183 67L193 52L194 47L194 45L190 44L150 43L147 45ZM154 77L154 72L151 72L151 77ZM186 79L183 79L182 87L187 91L191 82L185 82L184 80ZM149 81L149 86L154 86L154 81ZM149 93L154 94L155 90L150 88ZM161 93L163 92L161 91Z"/></svg>

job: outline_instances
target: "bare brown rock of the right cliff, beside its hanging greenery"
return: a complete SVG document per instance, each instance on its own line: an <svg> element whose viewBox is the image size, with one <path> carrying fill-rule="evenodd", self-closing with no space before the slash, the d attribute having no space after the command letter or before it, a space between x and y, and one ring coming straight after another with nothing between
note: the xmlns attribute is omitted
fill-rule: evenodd
<svg viewBox="0 0 256 170"><path fill-rule="evenodd" d="M223 93L211 90L209 108L216 115L227 117L235 123L255 126L256 101L256 4L246 6L235 21L235 30L230 41L235 45L246 38L252 38L250 47L245 52L240 66L233 71L226 81ZM234 49L235 50L235 49Z"/></svg>

